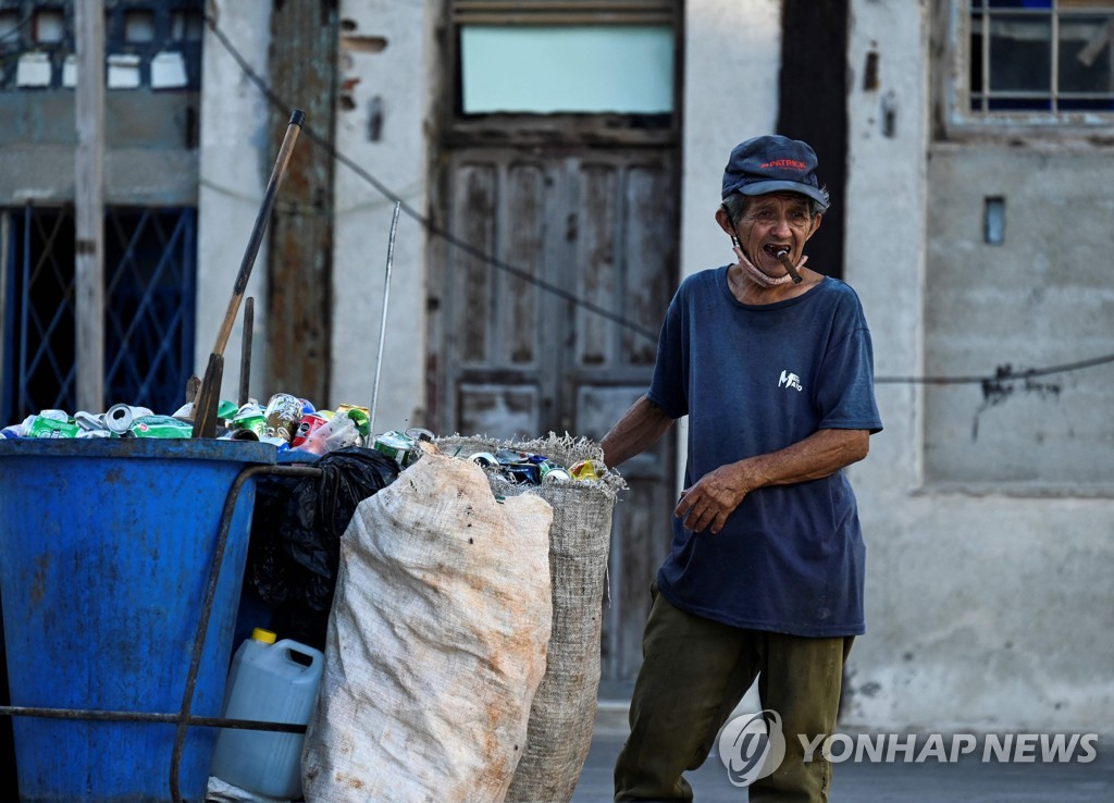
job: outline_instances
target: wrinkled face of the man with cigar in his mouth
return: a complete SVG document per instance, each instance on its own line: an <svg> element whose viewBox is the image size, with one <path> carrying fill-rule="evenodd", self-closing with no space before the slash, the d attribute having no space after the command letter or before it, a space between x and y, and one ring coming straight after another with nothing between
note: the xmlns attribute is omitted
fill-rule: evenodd
<svg viewBox="0 0 1114 803"><path fill-rule="evenodd" d="M735 228L751 263L768 276L778 277L785 274L778 252L788 249L795 265L819 226L820 216L812 215L810 199L795 193L775 193L754 197Z"/></svg>

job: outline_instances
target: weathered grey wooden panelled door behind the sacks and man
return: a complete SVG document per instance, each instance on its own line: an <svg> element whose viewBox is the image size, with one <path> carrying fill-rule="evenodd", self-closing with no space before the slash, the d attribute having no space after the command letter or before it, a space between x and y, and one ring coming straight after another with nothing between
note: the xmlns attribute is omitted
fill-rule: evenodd
<svg viewBox="0 0 1114 803"><path fill-rule="evenodd" d="M431 242L438 431L599 440L645 392L677 281L676 159L668 146L449 151L443 226L468 247ZM629 691L641 663L674 451L667 435L622 467L629 489L612 531L605 693Z"/></svg>

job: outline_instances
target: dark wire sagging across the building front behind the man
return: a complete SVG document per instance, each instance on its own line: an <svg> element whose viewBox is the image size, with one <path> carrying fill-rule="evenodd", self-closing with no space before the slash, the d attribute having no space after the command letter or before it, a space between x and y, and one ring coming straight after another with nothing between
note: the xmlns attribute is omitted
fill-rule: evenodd
<svg viewBox="0 0 1114 803"><path fill-rule="evenodd" d="M244 76L252 81L267 99L267 101L281 111L289 111L292 106L286 102L283 98L278 97L271 86L263 80L263 78L252 68L243 55L236 49L236 47L229 41L224 31L221 30L216 20L212 14L205 16L205 21L209 27L209 30L216 37L216 39L224 46L228 55L236 61L240 69L243 71ZM497 256L485 252L482 248L473 246L472 244L457 237L451 232L448 232L431 219L418 212L413 206L411 206L404 198L397 195L390 187L383 184L380 179L364 169L361 165L355 163L350 157L336 150L336 148L324 137L316 134L312 126L304 125L302 128L302 134L307 139L310 139L314 145L323 148L332 158L336 161L343 164L345 167L355 173L360 178L364 179L372 187L375 188L381 195L383 195L389 202L399 204L401 210L410 218L420 224L429 234L436 237L440 237L450 245L459 248L469 256L472 256L497 270L508 273L517 278L522 280L528 284L532 284L536 287L550 293L563 301L567 301L576 306L579 306L588 312L595 313L613 323L623 326L632 332L641 334L649 340L656 341L658 333L649 330L634 321L631 321L606 307L602 307L598 304L589 302L585 298L580 298L575 293L571 293L564 287L559 287L555 284L546 282L545 280L538 278L532 275L529 271L521 268L517 265L512 265ZM1012 381L1020 381L1035 379L1038 376L1047 376L1057 373L1068 373L1074 371L1081 371L1087 368L1094 368L1097 365L1104 365L1114 362L1114 354L1105 354L1102 356L1093 358L1089 360L1079 360L1076 362L1064 363L1059 365L1049 365L1045 368L1036 369L1025 369L1025 370L1014 370L1012 365L1006 364L999 366L999 369L994 374L988 375L924 375L924 376L900 376L900 375L881 375L876 376L874 382L878 384L981 384L987 385L989 383L1003 383Z"/></svg>

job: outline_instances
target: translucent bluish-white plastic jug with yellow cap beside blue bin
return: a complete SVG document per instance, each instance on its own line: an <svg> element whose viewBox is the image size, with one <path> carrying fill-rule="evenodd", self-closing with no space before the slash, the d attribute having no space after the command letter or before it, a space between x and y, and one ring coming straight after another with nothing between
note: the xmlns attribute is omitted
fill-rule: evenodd
<svg viewBox="0 0 1114 803"><path fill-rule="evenodd" d="M275 643L275 634L256 628L232 659L224 717L304 725L310 722L323 668L320 650L289 638ZM223 728L211 774L267 797L299 799L304 738L300 733Z"/></svg>

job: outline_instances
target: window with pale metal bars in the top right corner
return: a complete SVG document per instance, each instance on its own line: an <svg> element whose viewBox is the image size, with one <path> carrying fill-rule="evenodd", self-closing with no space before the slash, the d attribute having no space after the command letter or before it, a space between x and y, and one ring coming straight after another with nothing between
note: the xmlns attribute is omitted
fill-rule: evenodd
<svg viewBox="0 0 1114 803"><path fill-rule="evenodd" d="M1114 0L969 0L969 109L1114 112Z"/></svg>

